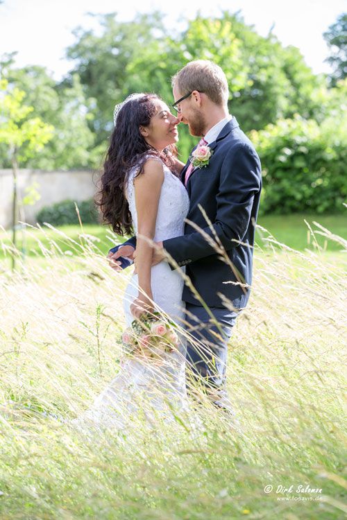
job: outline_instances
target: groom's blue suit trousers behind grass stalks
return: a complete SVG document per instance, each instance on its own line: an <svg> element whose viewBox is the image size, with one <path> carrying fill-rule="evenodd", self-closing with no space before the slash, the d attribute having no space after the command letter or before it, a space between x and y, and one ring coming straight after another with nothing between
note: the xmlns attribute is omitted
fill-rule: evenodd
<svg viewBox="0 0 347 520"><path fill-rule="evenodd" d="M216 406L233 413L226 392L226 361L228 340L239 311L209 309L213 318L203 306L186 303L185 327L192 338L187 342L187 391L192 394L192 380Z"/></svg>

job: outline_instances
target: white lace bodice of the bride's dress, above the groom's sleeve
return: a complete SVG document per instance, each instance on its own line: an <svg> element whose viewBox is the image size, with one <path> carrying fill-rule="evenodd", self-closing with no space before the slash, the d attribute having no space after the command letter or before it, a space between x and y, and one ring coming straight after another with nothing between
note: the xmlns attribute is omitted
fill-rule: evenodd
<svg viewBox="0 0 347 520"><path fill-rule="evenodd" d="M156 160L160 161L159 158ZM189 196L183 183L178 177L171 173L165 164L162 163L162 166L164 169L164 182L160 193L158 216L155 224L155 242L172 239L174 236L184 234L184 219L189 209ZM135 206L134 178L137 171L138 168L136 166L130 170L126 185L126 198L136 234L137 212Z"/></svg>

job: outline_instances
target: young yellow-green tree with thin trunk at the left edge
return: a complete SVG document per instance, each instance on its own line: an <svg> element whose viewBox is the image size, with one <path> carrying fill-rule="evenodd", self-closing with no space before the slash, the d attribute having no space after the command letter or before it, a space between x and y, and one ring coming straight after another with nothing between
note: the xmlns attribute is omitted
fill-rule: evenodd
<svg viewBox="0 0 347 520"><path fill-rule="evenodd" d="M0 81L0 143L8 148L13 173L12 242L16 246L17 177L20 162L42 150L53 135L53 126L39 117L29 117L33 107L24 105L25 92ZM15 254L12 268L15 267Z"/></svg>

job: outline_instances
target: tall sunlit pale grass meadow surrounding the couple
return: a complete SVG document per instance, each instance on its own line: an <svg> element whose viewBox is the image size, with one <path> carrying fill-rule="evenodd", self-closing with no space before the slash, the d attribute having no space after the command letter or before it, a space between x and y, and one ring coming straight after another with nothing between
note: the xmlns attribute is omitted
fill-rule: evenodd
<svg viewBox="0 0 347 520"><path fill-rule="evenodd" d="M1 519L342 518L346 253L291 250L259 229L253 292L228 359L242 433L206 406L198 431L158 417L84 435L63 421L119 370L131 274L105 262L112 237L84 232L41 236L40 254L19 255L15 272L2 261ZM8 243L3 252L9 260ZM277 494L279 485L294 492ZM298 485L321 488L311 495L321 500Z"/></svg>

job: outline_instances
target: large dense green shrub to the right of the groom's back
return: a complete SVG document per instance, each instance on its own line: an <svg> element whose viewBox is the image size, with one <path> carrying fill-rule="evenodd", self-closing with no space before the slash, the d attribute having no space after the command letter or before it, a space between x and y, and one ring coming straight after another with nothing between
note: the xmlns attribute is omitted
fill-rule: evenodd
<svg viewBox="0 0 347 520"><path fill-rule="evenodd" d="M252 132L262 161L260 214L336 213L347 196L346 130L300 116Z"/></svg>

